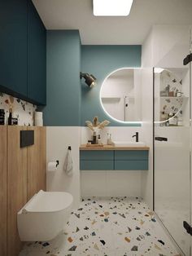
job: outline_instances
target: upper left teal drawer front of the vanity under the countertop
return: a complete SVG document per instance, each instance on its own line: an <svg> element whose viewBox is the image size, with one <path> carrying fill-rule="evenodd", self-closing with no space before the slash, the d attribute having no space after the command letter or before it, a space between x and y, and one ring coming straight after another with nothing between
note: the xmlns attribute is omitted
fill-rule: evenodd
<svg viewBox="0 0 192 256"><path fill-rule="evenodd" d="M90 150L80 152L81 160L113 160L114 159L114 151L98 151L98 150Z"/></svg>

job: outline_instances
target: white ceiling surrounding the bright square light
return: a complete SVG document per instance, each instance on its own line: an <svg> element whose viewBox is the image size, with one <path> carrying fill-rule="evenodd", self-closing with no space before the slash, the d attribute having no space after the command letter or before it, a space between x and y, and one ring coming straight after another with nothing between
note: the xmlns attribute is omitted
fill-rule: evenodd
<svg viewBox="0 0 192 256"><path fill-rule="evenodd" d="M127 17L94 16L92 0L33 2L46 29L79 29L82 44L142 44L153 24L192 24L192 0L133 0Z"/></svg>

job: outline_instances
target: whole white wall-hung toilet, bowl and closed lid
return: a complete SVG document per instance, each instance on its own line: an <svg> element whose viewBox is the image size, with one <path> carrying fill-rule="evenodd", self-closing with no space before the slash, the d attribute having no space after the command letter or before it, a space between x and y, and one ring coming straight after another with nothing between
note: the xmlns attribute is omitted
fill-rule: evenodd
<svg viewBox="0 0 192 256"><path fill-rule="evenodd" d="M72 210L68 192L39 191L18 212L20 241L50 241L63 231Z"/></svg>

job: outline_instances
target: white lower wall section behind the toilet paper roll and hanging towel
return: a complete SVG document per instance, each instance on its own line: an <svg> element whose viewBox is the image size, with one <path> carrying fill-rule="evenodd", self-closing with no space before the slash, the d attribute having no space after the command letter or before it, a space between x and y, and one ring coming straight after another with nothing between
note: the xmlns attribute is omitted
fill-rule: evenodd
<svg viewBox="0 0 192 256"><path fill-rule="evenodd" d="M47 127L46 161L59 160L58 170L47 171L47 191L70 192L74 199L74 208L80 203L80 170L79 170L79 145L80 127ZM72 147L73 175L69 177L63 171L63 162Z"/></svg>

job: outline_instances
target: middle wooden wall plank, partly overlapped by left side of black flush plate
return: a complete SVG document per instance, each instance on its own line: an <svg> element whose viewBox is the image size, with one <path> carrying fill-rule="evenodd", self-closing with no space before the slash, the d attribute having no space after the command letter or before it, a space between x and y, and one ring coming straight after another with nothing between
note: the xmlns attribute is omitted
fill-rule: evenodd
<svg viewBox="0 0 192 256"><path fill-rule="evenodd" d="M17 212L27 202L27 148L20 148L22 126L7 126L7 255L18 256L22 243L17 231Z"/></svg>

